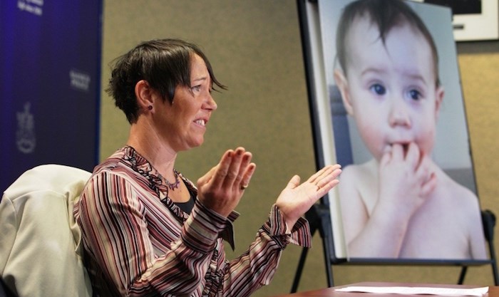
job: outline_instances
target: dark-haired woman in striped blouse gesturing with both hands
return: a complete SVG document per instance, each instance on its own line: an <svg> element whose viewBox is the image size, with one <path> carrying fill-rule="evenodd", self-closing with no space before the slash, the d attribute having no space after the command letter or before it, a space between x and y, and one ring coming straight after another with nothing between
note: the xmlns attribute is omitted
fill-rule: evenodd
<svg viewBox="0 0 499 297"><path fill-rule="evenodd" d="M75 217L86 266L101 296L249 296L272 278L282 249L309 246L302 215L334 187L339 165L307 182L291 179L247 252L225 259L234 212L252 174L238 147L197 180L175 170L182 150L202 144L220 84L197 46L165 39L118 58L108 92L130 122L121 148L93 172Z"/></svg>

